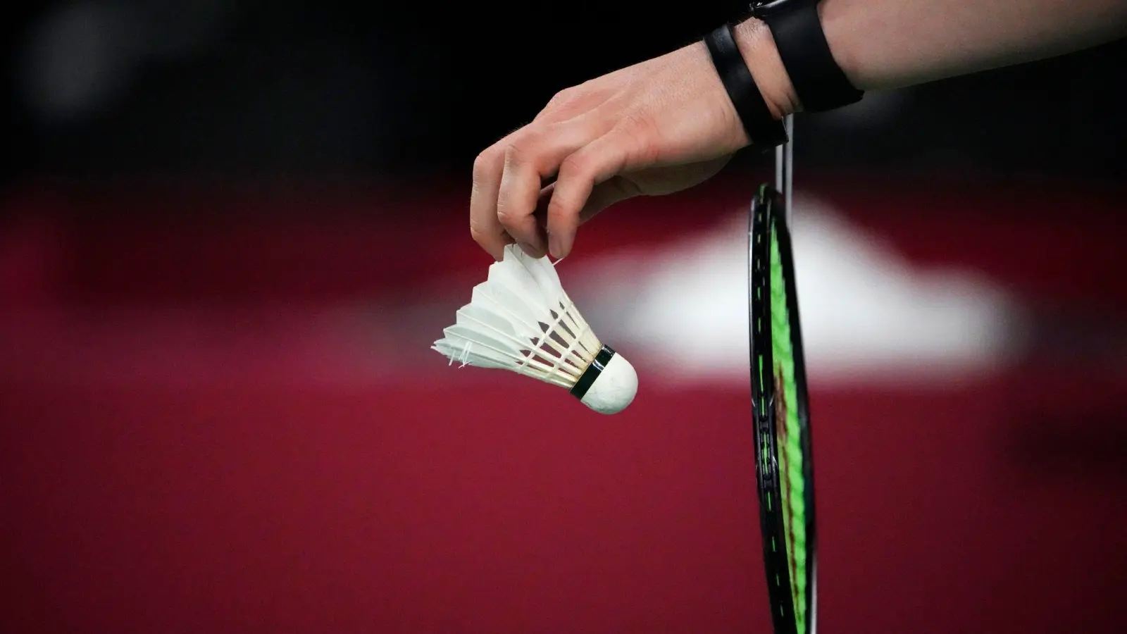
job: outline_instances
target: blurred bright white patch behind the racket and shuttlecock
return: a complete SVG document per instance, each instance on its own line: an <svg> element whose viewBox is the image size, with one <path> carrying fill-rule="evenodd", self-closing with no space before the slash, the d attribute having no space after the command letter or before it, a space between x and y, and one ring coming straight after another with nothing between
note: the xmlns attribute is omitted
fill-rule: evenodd
<svg viewBox="0 0 1127 634"><path fill-rule="evenodd" d="M991 371L1013 354L1020 309L974 272L919 270L828 206L795 205L807 364L818 381L931 381ZM660 252L624 252L568 273L609 341L667 376L747 380L747 220ZM631 351L631 354L636 354Z"/></svg>

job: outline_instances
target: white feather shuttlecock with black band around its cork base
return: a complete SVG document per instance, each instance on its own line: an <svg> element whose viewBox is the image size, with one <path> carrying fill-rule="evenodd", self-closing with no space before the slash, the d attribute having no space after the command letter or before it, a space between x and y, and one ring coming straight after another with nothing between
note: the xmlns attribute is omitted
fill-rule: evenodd
<svg viewBox="0 0 1127 634"><path fill-rule="evenodd" d="M515 245L489 266L434 350L451 363L499 368L567 388L584 405L616 414L633 400L638 373L603 345L564 292L556 267Z"/></svg>

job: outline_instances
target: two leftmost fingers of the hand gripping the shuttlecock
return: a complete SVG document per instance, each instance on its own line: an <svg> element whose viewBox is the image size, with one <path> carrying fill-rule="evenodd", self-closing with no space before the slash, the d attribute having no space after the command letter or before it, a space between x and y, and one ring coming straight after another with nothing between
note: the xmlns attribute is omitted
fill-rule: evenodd
<svg viewBox="0 0 1127 634"><path fill-rule="evenodd" d="M529 125L482 152L473 165L470 232L496 259L513 241L534 257L548 252L544 228L533 217L545 179L598 130L582 120Z"/></svg>

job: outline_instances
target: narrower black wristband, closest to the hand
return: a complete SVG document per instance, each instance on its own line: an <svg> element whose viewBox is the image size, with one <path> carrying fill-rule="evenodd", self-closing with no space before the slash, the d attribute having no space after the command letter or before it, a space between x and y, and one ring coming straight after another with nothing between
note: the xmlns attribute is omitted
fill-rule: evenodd
<svg viewBox="0 0 1127 634"><path fill-rule="evenodd" d="M736 114L744 124L752 147L766 151L786 143L787 130L781 121L771 116L747 62L739 54L736 38L731 35L731 25L726 24L710 33L704 37L704 44L708 45L712 65L728 91L731 105L736 107Z"/></svg>

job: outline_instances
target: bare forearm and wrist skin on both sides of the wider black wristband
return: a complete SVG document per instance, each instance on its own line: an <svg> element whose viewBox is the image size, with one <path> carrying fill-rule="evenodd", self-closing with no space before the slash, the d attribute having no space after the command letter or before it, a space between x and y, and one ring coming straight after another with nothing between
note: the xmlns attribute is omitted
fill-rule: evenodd
<svg viewBox="0 0 1127 634"><path fill-rule="evenodd" d="M1079 51L1127 34L1127 0L823 0L834 59L862 90L900 88ZM770 32L737 27L777 109L795 99ZM761 80L762 76L762 80Z"/></svg>

